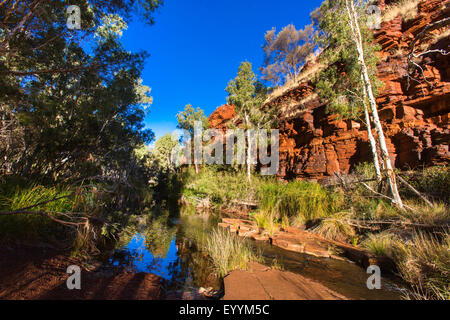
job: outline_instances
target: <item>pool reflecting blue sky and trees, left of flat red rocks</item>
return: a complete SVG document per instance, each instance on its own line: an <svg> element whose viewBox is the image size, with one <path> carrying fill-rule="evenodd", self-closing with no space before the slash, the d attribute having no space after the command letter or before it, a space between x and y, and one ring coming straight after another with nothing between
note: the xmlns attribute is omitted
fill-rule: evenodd
<svg viewBox="0 0 450 320"><path fill-rule="evenodd" d="M215 222L214 218L168 215L140 219L121 237L108 264L129 272L150 272L164 278L168 290L190 291L200 287L220 289L220 281L197 240Z"/></svg>

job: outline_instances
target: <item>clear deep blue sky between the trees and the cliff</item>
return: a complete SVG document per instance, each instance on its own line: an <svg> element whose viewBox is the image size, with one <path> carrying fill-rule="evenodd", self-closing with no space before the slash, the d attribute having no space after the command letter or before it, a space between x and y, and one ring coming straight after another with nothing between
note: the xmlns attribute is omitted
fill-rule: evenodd
<svg viewBox="0 0 450 320"><path fill-rule="evenodd" d="M186 104L209 116L226 101L225 87L241 61L256 72L263 62L264 33L288 24L310 23L321 0L165 0L147 26L136 19L122 42L150 57L142 74L154 99L146 126L156 137L176 128L175 115Z"/></svg>

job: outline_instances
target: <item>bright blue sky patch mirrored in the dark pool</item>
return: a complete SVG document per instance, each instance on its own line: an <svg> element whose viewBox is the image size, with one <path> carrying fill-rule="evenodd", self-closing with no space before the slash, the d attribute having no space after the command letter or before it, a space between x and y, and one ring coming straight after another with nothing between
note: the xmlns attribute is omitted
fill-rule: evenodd
<svg viewBox="0 0 450 320"><path fill-rule="evenodd" d="M175 238L170 242L169 251L165 257L154 256L145 246L145 237L139 233L134 235L120 251L127 256L126 265L134 272L151 272L168 280L172 279L174 272L180 272ZM124 265L123 261L115 258L112 258L110 262L114 266Z"/></svg>

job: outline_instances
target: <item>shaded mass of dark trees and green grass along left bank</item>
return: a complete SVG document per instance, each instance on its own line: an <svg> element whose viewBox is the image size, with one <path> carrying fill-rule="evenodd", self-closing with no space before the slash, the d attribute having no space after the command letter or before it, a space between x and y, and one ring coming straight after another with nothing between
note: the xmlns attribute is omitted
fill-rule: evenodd
<svg viewBox="0 0 450 320"><path fill-rule="evenodd" d="M100 217L111 222L99 227L107 235L152 197L142 152L154 136L143 130L152 103L140 77L147 53L129 52L120 36L135 13L153 23L162 1L70 4L80 7L80 30L68 29L67 1L0 5L0 205L14 210L82 188L33 210ZM36 214L0 218L5 237L73 238Z"/></svg>

